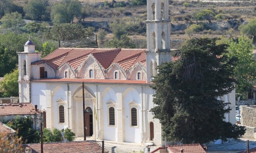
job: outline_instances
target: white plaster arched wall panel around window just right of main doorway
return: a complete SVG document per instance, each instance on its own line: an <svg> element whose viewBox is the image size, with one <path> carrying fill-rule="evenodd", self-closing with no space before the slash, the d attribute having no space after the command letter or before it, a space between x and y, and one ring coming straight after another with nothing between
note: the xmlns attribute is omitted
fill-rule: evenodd
<svg viewBox="0 0 256 153"><path fill-rule="evenodd" d="M103 125L104 125L104 140L117 141L117 97L116 92L112 88L106 88L102 94L103 103ZM112 100L115 104L106 104ZM109 125L109 111L113 107L115 109L115 125Z"/></svg>

